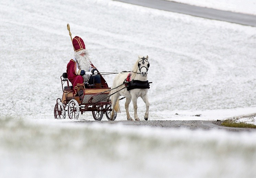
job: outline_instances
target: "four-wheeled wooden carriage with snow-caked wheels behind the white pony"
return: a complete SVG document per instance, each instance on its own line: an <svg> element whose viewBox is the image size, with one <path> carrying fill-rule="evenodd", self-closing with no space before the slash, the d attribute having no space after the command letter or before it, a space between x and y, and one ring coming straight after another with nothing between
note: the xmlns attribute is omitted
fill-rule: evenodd
<svg viewBox="0 0 256 178"><path fill-rule="evenodd" d="M54 107L55 119L65 119L66 111L70 119L78 119L80 113L90 111L94 120L101 120L104 114L110 120L112 107L109 93L111 89L103 77L101 77L101 86L97 86L97 88L94 85L87 86L84 88L82 97L73 96L73 86L69 85L67 73L63 73L60 79L63 95L62 99L58 98L56 100ZM116 113L112 120L115 120L115 118Z"/></svg>

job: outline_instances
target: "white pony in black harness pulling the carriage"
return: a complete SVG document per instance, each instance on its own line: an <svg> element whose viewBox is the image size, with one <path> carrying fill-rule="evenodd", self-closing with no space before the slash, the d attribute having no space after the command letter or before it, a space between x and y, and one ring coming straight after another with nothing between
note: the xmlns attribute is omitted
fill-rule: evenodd
<svg viewBox="0 0 256 178"><path fill-rule="evenodd" d="M143 83L142 85L144 85L144 87L139 87L139 88L145 88L145 87L149 86L148 82L147 82L148 67L149 67L148 56L146 56L146 58L145 58L145 57L139 55L138 60L136 61L136 63L133 66L133 69L131 71L131 77L130 77L131 81L139 80L138 82L140 82L140 83L142 81L142 83ZM127 88L125 88L125 85L122 85L126 78L127 78L127 73L119 73L114 78L112 88L116 88L118 86L119 87L111 90L111 94L113 94L113 93L114 94L111 96L111 103L112 103L113 109L111 112L110 119L111 120L113 119L114 111L120 112L119 97L122 95L122 96L126 97L125 110L126 110L127 120L133 120L129 113L129 104L131 101L133 102L134 119L140 120L137 115L137 108L138 108L137 99L138 99L138 97L141 97L142 100L146 104L146 113L145 113L144 119L147 120L148 119L148 109L149 109L147 92L148 92L149 87L145 88L145 89L139 89L139 88L135 87L135 89L131 89L130 91L128 91Z"/></svg>

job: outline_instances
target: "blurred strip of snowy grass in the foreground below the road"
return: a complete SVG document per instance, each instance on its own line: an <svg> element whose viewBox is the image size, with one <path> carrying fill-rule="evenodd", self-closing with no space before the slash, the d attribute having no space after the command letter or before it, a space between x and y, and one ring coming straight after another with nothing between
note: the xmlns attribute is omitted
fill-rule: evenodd
<svg viewBox="0 0 256 178"><path fill-rule="evenodd" d="M256 132L0 119L0 177L255 177Z"/></svg>

